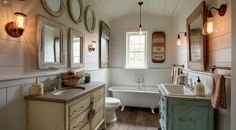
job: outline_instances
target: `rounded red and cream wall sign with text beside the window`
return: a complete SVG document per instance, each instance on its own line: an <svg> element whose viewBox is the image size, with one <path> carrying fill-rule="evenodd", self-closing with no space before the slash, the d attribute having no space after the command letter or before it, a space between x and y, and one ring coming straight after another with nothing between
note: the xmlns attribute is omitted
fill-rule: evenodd
<svg viewBox="0 0 236 130"><path fill-rule="evenodd" d="M165 62L165 33L153 32L152 33L152 62L163 63Z"/></svg>

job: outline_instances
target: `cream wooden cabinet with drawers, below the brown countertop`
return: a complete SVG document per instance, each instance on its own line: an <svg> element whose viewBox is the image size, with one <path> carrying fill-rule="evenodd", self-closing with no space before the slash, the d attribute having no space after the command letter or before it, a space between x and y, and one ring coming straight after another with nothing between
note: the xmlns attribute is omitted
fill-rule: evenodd
<svg viewBox="0 0 236 130"><path fill-rule="evenodd" d="M66 103L27 100L28 130L95 130L105 127L104 87ZM90 112L95 112L89 119Z"/></svg>

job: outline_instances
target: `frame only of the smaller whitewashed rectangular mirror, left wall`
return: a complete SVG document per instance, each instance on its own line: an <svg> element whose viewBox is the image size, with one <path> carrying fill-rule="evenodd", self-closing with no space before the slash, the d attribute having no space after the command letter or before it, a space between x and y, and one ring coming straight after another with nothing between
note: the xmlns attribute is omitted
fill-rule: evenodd
<svg viewBox="0 0 236 130"><path fill-rule="evenodd" d="M76 35L80 37L80 63L73 63L73 36ZM69 39L68 39L68 59L69 68L82 68L84 67L84 40L85 36L83 33L70 28L69 29Z"/></svg>

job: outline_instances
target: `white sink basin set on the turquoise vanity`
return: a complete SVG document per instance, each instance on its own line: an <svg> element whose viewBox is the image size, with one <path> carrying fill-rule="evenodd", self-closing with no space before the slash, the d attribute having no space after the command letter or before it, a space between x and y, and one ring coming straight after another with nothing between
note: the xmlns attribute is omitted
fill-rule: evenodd
<svg viewBox="0 0 236 130"><path fill-rule="evenodd" d="M194 93L183 85L161 84L162 90L167 95L173 96L195 96Z"/></svg>

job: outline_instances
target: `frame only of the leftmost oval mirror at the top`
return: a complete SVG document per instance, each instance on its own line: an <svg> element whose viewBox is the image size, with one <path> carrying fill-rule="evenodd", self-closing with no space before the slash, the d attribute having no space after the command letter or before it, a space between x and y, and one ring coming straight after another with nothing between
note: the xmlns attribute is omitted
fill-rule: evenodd
<svg viewBox="0 0 236 130"><path fill-rule="evenodd" d="M61 4L60 4L60 8L59 8L58 11L55 12L55 11L53 11L52 9L50 9L50 8L48 7L47 0L41 0L44 9L45 9L50 15L52 15L52 16L54 16L54 17L59 17L59 16L61 16L61 15L64 13L64 10L65 10L64 1L63 1L63 0L58 0L58 1L60 1L60 3L61 3Z"/></svg>

